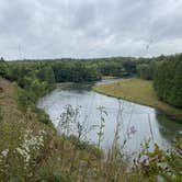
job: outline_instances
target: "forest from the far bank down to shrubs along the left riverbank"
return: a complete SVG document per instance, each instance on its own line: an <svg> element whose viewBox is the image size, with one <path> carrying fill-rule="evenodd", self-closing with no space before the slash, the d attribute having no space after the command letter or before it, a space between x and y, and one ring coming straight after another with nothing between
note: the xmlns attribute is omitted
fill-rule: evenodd
<svg viewBox="0 0 182 182"><path fill-rule="evenodd" d="M48 116L36 109L36 101L54 88L55 82L83 82L101 80L102 76L125 77L136 73L135 60L24 60L0 59L0 76L14 82L22 111L36 111L39 121L49 123Z"/></svg>

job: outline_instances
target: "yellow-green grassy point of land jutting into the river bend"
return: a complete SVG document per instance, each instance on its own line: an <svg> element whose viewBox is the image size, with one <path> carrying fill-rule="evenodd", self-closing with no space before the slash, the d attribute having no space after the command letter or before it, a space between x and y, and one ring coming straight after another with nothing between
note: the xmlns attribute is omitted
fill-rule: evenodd
<svg viewBox="0 0 182 182"><path fill-rule="evenodd" d="M94 86L93 90L109 96L152 106L182 122L182 110L160 101L152 87L152 81L136 78L126 79L120 82Z"/></svg>

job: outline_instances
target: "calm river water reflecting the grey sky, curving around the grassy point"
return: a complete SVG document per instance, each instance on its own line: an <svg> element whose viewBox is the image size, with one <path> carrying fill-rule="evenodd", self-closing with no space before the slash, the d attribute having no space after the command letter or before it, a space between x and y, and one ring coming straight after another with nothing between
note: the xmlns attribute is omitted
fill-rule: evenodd
<svg viewBox="0 0 182 182"><path fill-rule="evenodd" d="M95 84L113 82L117 80L103 80ZM110 148L113 144L116 126L120 123L120 143L126 145L124 150L127 153L138 151L140 145L150 138L150 146L158 144L167 148L172 141L182 137L182 124L172 121L157 110L139 105L133 102L118 100L115 98L99 94L91 90L91 84L66 84L52 91L38 102L38 107L43 109L50 117L55 127L58 127L60 115L66 111L65 106L70 104L72 109L79 106L80 121L88 128L86 135L90 143L98 143L98 129L93 125L100 124L101 113L99 106L104 106L107 115L104 115L103 148Z"/></svg>

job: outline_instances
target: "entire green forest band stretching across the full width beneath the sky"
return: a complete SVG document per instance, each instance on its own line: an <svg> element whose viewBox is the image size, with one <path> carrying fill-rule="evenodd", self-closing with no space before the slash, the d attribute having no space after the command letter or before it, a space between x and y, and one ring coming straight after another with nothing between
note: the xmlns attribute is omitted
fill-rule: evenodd
<svg viewBox="0 0 182 182"><path fill-rule="evenodd" d="M182 106L182 55L155 58L112 57L99 59L0 60L0 76L16 81L26 93L24 102L34 102L55 82L101 80L102 76L134 77L153 80L159 98ZM30 99L31 98L31 99ZM26 105L24 103L23 105Z"/></svg>

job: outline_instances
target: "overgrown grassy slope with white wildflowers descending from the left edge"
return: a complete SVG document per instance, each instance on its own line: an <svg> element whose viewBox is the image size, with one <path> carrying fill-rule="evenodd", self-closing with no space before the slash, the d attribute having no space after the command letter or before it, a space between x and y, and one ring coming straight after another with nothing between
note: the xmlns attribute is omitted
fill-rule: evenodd
<svg viewBox="0 0 182 182"><path fill-rule="evenodd" d="M0 181L132 181L112 153L41 123L34 111L19 109L16 86L0 78ZM117 159L118 160L118 159ZM114 170L117 169L117 170Z"/></svg>

